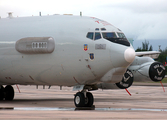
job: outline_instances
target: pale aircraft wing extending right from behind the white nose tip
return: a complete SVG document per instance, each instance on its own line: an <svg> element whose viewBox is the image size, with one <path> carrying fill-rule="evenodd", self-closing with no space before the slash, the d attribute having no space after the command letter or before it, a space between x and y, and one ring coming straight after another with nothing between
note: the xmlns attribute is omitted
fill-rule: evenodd
<svg viewBox="0 0 167 120"><path fill-rule="evenodd" d="M136 56L139 56L139 57L151 57L153 59L156 59L156 58L158 58L160 53L161 52L159 52L159 51L136 52Z"/></svg>

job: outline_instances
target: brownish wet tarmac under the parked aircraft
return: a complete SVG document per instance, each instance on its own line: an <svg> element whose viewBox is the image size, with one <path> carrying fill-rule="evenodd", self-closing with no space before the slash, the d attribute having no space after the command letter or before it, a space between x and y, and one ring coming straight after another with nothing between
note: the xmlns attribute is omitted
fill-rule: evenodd
<svg viewBox="0 0 167 120"><path fill-rule="evenodd" d="M96 90L94 108L78 109L72 87L16 86L13 101L0 101L0 120L139 120L167 119L167 87L160 83L135 83L123 89Z"/></svg>

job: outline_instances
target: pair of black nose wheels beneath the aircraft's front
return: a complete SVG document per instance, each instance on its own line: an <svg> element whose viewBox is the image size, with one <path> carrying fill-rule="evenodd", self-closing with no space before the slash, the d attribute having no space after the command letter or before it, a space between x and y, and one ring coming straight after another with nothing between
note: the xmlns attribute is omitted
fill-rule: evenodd
<svg viewBox="0 0 167 120"><path fill-rule="evenodd" d="M74 97L74 104L76 107L92 107L94 98L92 93L86 92L77 92Z"/></svg>

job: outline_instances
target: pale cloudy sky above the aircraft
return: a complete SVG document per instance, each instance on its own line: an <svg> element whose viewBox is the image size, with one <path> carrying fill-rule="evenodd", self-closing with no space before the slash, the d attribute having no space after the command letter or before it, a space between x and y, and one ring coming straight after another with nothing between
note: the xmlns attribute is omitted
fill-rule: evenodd
<svg viewBox="0 0 167 120"><path fill-rule="evenodd" d="M0 0L1 18L8 12L26 17L38 16L39 12L79 15L80 11L83 16L111 23L137 43L147 40L157 44L161 40L162 49L167 47L167 0Z"/></svg>

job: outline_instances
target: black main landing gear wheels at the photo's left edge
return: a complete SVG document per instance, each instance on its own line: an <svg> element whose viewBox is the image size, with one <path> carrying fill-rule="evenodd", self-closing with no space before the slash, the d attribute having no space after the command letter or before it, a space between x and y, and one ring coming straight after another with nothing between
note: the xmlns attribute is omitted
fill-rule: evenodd
<svg viewBox="0 0 167 120"><path fill-rule="evenodd" d="M5 88L0 86L0 100L13 100L14 98L14 89L11 85L7 85Z"/></svg>

